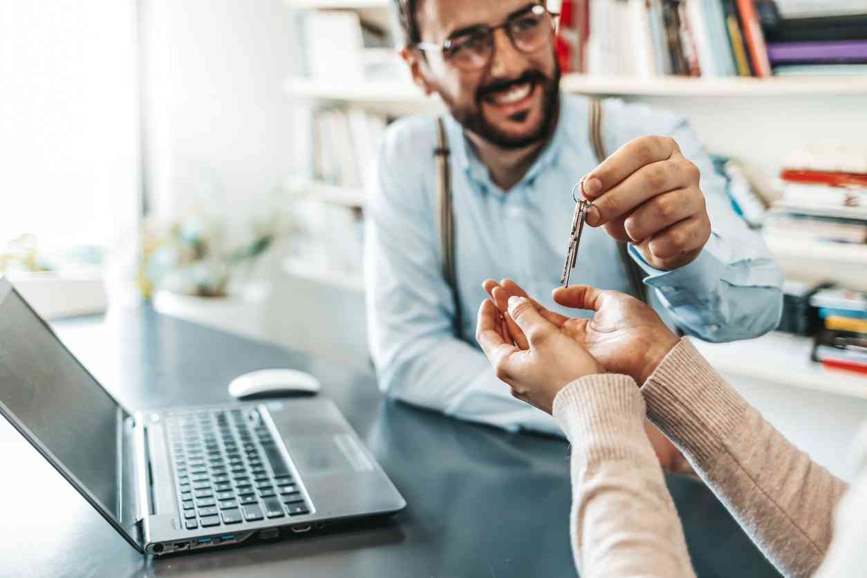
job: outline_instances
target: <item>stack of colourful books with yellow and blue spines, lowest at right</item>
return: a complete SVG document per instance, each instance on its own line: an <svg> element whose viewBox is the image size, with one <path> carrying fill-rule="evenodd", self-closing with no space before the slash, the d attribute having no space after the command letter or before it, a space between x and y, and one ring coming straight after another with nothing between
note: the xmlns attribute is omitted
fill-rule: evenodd
<svg viewBox="0 0 867 578"><path fill-rule="evenodd" d="M825 367L867 373L867 293L823 289L812 295L824 329L816 336L813 360Z"/></svg>

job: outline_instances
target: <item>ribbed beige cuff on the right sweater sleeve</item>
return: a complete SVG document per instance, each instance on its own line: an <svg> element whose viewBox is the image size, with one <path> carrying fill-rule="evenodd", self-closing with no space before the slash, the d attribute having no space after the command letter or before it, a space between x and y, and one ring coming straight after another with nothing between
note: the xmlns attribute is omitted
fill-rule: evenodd
<svg viewBox="0 0 867 578"><path fill-rule="evenodd" d="M700 466L720 453L747 407L686 337L668 352L641 393L650 421Z"/></svg>

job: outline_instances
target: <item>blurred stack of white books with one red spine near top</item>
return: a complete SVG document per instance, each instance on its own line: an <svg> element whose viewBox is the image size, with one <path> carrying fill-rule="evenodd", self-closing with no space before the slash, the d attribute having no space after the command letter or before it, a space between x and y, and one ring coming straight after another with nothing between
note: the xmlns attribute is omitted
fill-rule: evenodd
<svg viewBox="0 0 867 578"><path fill-rule="evenodd" d="M780 173L782 197L766 216L768 237L867 243L867 163L844 151L797 153Z"/></svg>

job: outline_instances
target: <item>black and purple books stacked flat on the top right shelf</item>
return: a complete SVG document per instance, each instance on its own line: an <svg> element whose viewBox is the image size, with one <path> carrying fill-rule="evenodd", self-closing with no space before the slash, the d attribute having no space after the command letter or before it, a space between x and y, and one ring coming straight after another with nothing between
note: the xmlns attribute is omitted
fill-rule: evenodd
<svg viewBox="0 0 867 578"><path fill-rule="evenodd" d="M825 10L764 22L773 74L867 75L867 13L849 12L851 3L816 4Z"/></svg>

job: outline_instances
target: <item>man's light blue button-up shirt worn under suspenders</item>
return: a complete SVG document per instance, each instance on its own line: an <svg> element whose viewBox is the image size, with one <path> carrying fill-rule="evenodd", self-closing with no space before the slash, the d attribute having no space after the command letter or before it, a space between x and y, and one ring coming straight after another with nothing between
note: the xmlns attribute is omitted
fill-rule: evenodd
<svg viewBox="0 0 867 578"><path fill-rule="evenodd" d="M546 307L558 307L559 285L575 202L572 186L596 166L588 133L588 100L562 95L551 142L509 192L490 173L447 117L451 148L455 254L464 335L453 335L454 302L442 277L436 224L435 120L395 122L381 145L368 192L365 238L368 342L382 390L397 399L460 419L515 429L557 432L544 412L512 398L473 339L486 278L514 279ZM655 270L631 256L654 288L668 321L707 341L732 341L774 328L782 309L782 276L762 238L737 217L707 153L685 120L619 100L604 102L603 140L609 152L636 137L673 137L701 170L712 235L693 263ZM616 242L585 227L572 284L629 292Z"/></svg>

